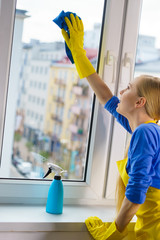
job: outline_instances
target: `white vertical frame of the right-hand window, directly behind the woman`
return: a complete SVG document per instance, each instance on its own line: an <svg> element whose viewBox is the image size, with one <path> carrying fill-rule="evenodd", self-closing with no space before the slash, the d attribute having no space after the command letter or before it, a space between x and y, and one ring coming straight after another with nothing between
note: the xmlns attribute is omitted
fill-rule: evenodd
<svg viewBox="0 0 160 240"><path fill-rule="evenodd" d="M125 3L126 11L124 13L124 23L122 28L124 34L122 34L121 53L119 56L121 60L119 72L117 72L117 96L120 95L120 90L125 89L133 78L142 2L143 0L130 0ZM126 63L126 66L124 66L126 56L129 57L130 63ZM113 172L118 176L116 161L124 158L125 149L129 144L128 140L130 137L131 135L127 133L127 131L117 121L115 121L105 194L107 199L113 200L115 198L117 178L115 178Z"/></svg>

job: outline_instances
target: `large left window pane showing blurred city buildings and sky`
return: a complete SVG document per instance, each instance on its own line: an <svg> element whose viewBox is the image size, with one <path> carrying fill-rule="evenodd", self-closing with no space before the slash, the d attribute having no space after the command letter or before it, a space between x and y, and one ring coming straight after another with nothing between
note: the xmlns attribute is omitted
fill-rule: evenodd
<svg viewBox="0 0 160 240"><path fill-rule="evenodd" d="M42 178L51 162L67 170L63 179L84 179L93 92L67 59L61 30L52 22L62 9L83 19L84 47L96 64L103 0L17 0L6 178Z"/></svg>

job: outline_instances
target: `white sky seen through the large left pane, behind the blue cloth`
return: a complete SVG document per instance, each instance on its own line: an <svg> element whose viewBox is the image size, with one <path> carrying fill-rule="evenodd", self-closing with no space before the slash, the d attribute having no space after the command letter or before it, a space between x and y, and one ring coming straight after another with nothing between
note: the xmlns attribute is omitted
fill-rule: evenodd
<svg viewBox="0 0 160 240"><path fill-rule="evenodd" d="M27 10L31 16L24 20L23 41L42 42L63 40L61 31L52 20L64 10L75 12L83 19L85 30L102 22L104 0L17 0L17 9Z"/></svg>

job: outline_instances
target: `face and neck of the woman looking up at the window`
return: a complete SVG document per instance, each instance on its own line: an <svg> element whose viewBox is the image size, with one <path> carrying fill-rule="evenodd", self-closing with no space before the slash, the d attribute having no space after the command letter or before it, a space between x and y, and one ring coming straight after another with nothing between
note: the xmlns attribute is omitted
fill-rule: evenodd
<svg viewBox="0 0 160 240"><path fill-rule="evenodd" d="M131 115L136 109L136 103L139 99L136 91L136 84L139 80L139 78L136 78L128 84L127 88L120 91L120 103L118 104L116 111L125 117Z"/></svg>

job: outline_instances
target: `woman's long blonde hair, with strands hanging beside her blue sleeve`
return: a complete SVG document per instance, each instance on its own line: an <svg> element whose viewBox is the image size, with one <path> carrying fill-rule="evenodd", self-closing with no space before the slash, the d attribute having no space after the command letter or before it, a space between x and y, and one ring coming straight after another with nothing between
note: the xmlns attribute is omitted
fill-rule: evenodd
<svg viewBox="0 0 160 240"><path fill-rule="evenodd" d="M149 75L141 75L136 85L137 94L146 99L145 110L147 114L156 120L160 120L160 78ZM129 145L125 151L125 158L128 155ZM117 214L122 206L125 197L125 185L120 175L116 185L116 210Z"/></svg>

